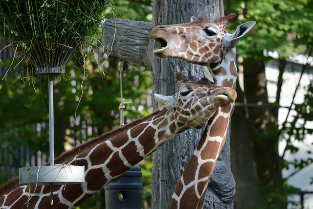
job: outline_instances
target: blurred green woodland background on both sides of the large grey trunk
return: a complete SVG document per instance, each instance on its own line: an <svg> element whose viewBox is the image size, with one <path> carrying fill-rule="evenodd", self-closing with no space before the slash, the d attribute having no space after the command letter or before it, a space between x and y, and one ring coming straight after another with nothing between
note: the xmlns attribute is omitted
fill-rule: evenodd
<svg viewBox="0 0 313 209"><path fill-rule="evenodd" d="M115 15L107 11L106 18L152 22L152 0L119 0L116 8ZM225 0L224 8L225 14L234 12L242 22L257 22L237 47L242 57L238 66L243 72L244 86L237 85L238 105L231 126L232 170L237 182L235 207L286 208L290 201L287 197L300 190L288 185L289 177L283 178L282 170L293 167L300 171L313 162L312 157L284 159L286 153L299 151L295 141L302 142L307 135L312 135L312 129L306 124L313 120L313 82L304 87L308 94L302 104L293 101L287 107L293 119L278 124L278 109L284 106L280 103L280 94L286 58L293 53L313 55L313 0ZM236 26L232 23L229 28L234 30ZM75 141L84 142L119 126L119 61L104 54L101 28L95 35L100 41L93 58L83 63L82 55L77 53L68 64L66 75L54 81L56 155L72 147ZM265 65L273 58L264 56L264 51L279 53L277 96L271 103ZM2 67L12 63L12 58L0 59ZM13 63L15 66L18 61ZM29 155L44 155L49 149L47 82L41 77L28 80L21 68L11 67L7 74L6 70L0 72L0 184L14 174L4 170L7 164L19 161L14 154L21 146L29 149ZM301 72L312 74L312 67L303 65ZM132 102L125 109L126 123L152 112L148 106L152 78L146 73L151 74L151 69L132 64L122 73L123 101ZM244 103L246 105L241 105ZM279 141L286 143L282 155L278 152ZM141 167L145 186L142 207L148 209L151 159L141 163ZM79 208L103 208L102 198L103 194L98 193Z"/></svg>

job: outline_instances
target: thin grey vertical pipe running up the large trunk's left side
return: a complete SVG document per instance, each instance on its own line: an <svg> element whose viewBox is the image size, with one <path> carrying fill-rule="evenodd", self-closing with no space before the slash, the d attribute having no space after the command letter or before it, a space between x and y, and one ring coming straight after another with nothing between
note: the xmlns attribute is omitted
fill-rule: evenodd
<svg viewBox="0 0 313 209"><path fill-rule="evenodd" d="M162 25L168 24L167 21L167 0L162 0ZM167 95L167 58L161 59L161 93ZM160 209L165 209L165 146L160 150Z"/></svg>

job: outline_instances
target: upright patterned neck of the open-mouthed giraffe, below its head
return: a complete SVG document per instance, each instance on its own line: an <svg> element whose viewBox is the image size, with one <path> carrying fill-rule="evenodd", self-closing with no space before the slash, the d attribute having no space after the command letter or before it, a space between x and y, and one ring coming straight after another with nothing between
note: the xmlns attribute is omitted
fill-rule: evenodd
<svg viewBox="0 0 313 209"><path fill-rule="evenodd" d="M220 64L208 64L214 84L236 88L237 67L235 48L229 49ZM234 109L234 103L219 107L208 121L191 156L176 189L173 193L170 209L202 209L206 187L213 173L218 156L223 148L228 124Z"/></svg>

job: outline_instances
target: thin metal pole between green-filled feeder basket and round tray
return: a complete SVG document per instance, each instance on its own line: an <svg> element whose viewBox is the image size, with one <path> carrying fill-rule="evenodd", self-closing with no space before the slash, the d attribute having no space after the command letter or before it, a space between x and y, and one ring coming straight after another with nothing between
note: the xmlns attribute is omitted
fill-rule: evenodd
<svg viewBox="0 0 313 209"><path fill-rule="evenodd" d="M48 75L50 165L54 165L53 79Z"/></svg>

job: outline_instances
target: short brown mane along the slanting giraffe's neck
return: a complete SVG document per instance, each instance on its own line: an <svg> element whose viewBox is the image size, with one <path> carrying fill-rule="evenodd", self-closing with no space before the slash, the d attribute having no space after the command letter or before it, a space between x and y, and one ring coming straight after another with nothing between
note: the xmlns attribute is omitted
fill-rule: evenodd
<svg viewBox="0 0 313 209"><path fill-rule="evenodd" d="M152 113L149 116L145 116L143 118L134 120L132 123L129 123L121 128L118 128L116 130L110 131L108 133L102 134L98 137L92 138L89 141L80 144L77 147L74 147L72 150L67 151L62 153L59 157L55 158L55 163L64 163L67 161L67 159L70 158L74 158L77 154L79 154L80 152L83 152L89 148L92 148L93 146L102 143L108 139L111 139L112 137L123 133L131 128L133 128L136 125L139 125L140 123L142 123L143 121L147 121L150 120L152 117L158 115L161 112L165 112L166 110L158 110L154 113ZM49 163L46 163L45 165L49 165ZM17 188L19 186L19 177L15 176L12 179L10 179L8 182L4 183L1 187L0 187L0 197L3 196L4 194L8 193L9 191L12 191L13 189Z"/></svg>

